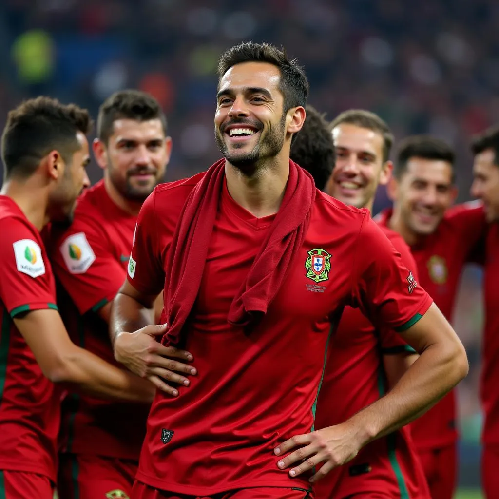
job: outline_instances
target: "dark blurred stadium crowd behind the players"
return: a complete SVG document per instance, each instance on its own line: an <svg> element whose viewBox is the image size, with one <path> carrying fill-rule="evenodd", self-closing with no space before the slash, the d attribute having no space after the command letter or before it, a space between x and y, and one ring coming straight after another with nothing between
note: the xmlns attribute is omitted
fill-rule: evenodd
<svg viewBox="0 0 499 499"><path fill-rule="evenodd" d="M209 6L208 6L209 5ZM88 107L110 93L151 92L167 113L167 180L219 157L215 66L242 40L282 44L305 66L309 102L332 119L370 109L397 139L429 132L458 151L459 201L469 198L470 136L499 116L495 0L2 0L0 126L22 98L47 94ZM89 167L92 182L100 171ZM378 193L375 212L387 206ZM478 401L481 272L466 270L454 325L471 364L461 383L460 498L480 498Z"/></svg>

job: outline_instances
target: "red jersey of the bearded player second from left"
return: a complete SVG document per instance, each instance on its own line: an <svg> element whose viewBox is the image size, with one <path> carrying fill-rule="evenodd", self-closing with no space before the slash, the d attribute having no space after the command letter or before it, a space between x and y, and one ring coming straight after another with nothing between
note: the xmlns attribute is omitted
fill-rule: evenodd
<svg viewBox="0 0 499 499"><path fill-rule="evenodd" d="M72 340L110 364L108 325L98 315L126 278L137 217L109 198L104 182L78 200L71 227L52 228L49 250L59 286L58 303ZM138 460L149 406L71 394L62 407L61 450Z"/></svg>

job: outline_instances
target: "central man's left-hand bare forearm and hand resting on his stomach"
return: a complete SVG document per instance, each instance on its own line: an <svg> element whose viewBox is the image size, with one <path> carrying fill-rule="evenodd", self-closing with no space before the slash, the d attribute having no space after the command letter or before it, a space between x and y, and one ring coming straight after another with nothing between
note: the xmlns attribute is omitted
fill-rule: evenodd
<svg viewBox="0 0 499 499"><path fill-rule="evenodd" d="M193 356L185 350L165 347L156 341L163 336L166 325L153 325L154 302L156 295L144 295L135 289L128 280L113 300L109 334L114 345L114 356L135 374L147 378L156 387L173 396L178 390L164 382L189 385L183 374L196 374L190 365L174 360L191 362ZM133 331L133 332L131 332Z"/></svg>

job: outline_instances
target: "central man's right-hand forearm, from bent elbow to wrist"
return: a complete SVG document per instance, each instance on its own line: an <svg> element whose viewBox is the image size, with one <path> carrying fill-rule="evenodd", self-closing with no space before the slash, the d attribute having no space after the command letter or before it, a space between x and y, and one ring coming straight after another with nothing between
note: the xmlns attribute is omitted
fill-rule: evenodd
<svg viewBox="0 0 499 499"><path fill-rule="evenodd" d="M358 429L361 445L392 433L435 405L467 374L458 345L432 345L421 353L384 397L347 422Z"/></svg>

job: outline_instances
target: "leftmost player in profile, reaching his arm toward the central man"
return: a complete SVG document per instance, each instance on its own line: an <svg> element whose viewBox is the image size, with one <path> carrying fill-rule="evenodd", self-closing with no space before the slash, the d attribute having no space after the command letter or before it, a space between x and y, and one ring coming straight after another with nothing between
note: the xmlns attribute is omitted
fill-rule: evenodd
<svg viewBox="0 0 499 499"><path fill-rule="evenodd" d="M62 393L54 382L130 402L154 394L146 381L74 345L55 304L40 231L70 219L89 185L89 125L87 111L39 97L10 111L2 134L0 495L7 499L52 499Z"/></svg>

